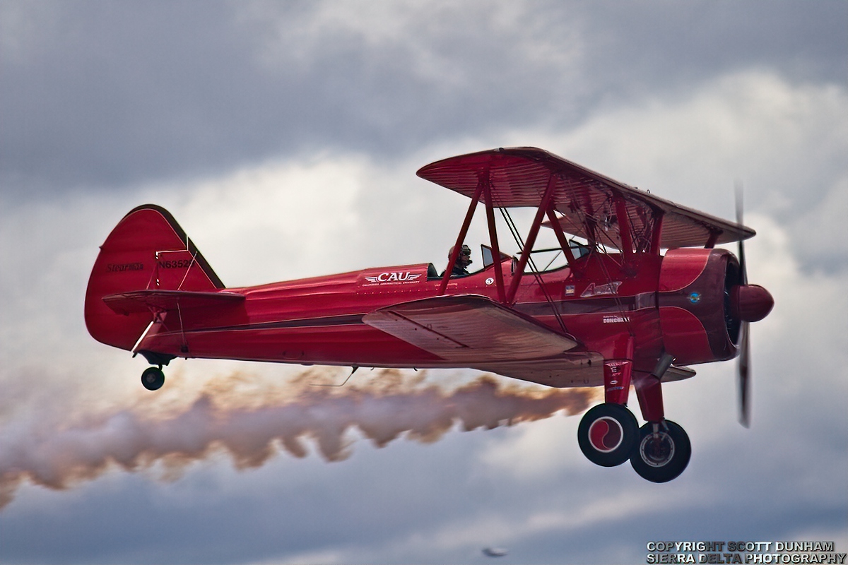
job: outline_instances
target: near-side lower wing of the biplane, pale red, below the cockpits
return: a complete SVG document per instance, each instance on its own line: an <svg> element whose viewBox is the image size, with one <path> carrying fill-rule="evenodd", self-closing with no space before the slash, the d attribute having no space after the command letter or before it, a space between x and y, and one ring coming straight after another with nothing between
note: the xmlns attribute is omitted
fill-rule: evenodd
<svg viewBox="0 0 848 565"><path fill-rule="evenodd" d="M365 324L448 361L553 357L577 341L485 296L436 296L366 314Z"/></svg>

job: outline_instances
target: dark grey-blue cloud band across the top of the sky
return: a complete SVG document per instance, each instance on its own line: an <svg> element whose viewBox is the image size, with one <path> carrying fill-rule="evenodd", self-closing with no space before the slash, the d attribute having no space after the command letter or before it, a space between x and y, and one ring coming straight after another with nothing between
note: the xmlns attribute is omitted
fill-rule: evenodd
<svg viewBox="0 0 848 565"><path fill-rule="evenodd" d="M392 158L739 68L843 78L845 3L367 5L8 3L4 191Z"/></svg>

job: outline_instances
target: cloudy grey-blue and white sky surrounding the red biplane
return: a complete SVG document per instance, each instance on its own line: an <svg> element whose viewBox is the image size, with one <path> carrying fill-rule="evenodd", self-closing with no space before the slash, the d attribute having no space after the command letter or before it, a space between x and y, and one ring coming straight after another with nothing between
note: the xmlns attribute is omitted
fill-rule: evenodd
<svg viewBox="0 0 848 565"><path fill-rule="evenodd" d="M499 546L505 563L623 563L650 540L846 551L846 29L848 3L826 0L0 3L0 562L481 563ZM776 300L752 327L750 429L722 363L665 389L693 444L666 485L586 461L565 412L392 441L354 427L337 451L313 432L253 459L225 442L97 464L146 429L249 428L257 402L276 416L312 402L325 420L348 406L303 385L345 374L250 363L177 361L161 394L143 390L143 360L82 319L124 213L168 208L232 286L440 264L466 201L416 169L516 145L725 218L744 184L750 280ZM464 394L479 376L395 385ZM349 394L375 377L397 375ZM371 401L355 421L396 408Z"/></svg>

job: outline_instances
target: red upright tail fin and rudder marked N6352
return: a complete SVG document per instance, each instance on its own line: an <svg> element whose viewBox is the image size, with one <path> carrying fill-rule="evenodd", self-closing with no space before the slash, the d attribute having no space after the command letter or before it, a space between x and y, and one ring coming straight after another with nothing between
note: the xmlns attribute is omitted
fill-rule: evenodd
<svg viewBox="0 0 848 565"><path fill-rule="evenodd" d="M151 312L115 313L103 297L132 291L223 289L170 212L145 204L127 213L100 246L86 291L86 327L94 339L131 350Z"/></svg>

